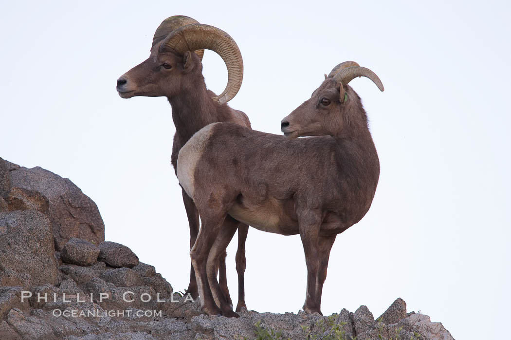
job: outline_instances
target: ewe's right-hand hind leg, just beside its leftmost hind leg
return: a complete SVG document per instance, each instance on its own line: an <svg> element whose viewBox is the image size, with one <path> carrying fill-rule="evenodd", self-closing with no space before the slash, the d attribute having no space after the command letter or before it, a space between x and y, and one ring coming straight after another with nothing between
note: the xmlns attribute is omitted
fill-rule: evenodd
<svg viewBox="0 0 511 340"><path fill-rule="evenodd" d="M211 292L213 293L213 298L215 299L217 306L220 307L220 310L222 311L223 316L238 317L239 315L233 311L233 304L230 301L230 299L227 298L228 291L227 291L227 296L226 296L224 288L217 281L215 263L218 261L219 258L224 256L225 248L227 247L230 240L233 238L234 234L236 233L237 227L238 227L238 221L236 221L235 219L233 219L230 216L227 216L225 218L222 228L220 229L220 232L215 240L215 243L213 244L213 247L211 248L210 255L207 258L207 265L206 265L207 266L207 279L210 283ZM227 287L225 287L225 289L226 288Z"/></svg>

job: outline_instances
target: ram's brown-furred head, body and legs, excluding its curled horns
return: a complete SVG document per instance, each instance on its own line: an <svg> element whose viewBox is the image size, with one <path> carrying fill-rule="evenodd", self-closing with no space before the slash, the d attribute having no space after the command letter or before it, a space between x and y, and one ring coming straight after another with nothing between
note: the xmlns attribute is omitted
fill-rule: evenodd
<svg viewBox="0 0 511 340"><path fill-rule="evenodd" d="M133 67L118 80L117 90L122 98L134 96L168 98L172 106L172 118L176 126L174 145L172 148L172 165L176 169L177 155L181 147L202 127L214 122L233 122L250 128L248 117L242 112L230 108L227 104L220 105L212 100L215 94L206 89L202 76L202 63L193 52L177 55L172 51L159 48L155 44L151 55L141 64ZM164 67L171 66L170 69ZM199 215L193 200L183 191L184 207L190 223L190 247L195 243L199 232ZM248 226L234 223L239 228L238 252L236 268L238 271L239 299L237 310L246 307L244 297L245 271L245 240ZM220 281L225 298L230 301L225 274L225 251L220 255L217 267L220 267ZM187 292L195 299L198 288L195 271L191 267L190 285ZM232 303L230 303L232 305Z"/></svg>

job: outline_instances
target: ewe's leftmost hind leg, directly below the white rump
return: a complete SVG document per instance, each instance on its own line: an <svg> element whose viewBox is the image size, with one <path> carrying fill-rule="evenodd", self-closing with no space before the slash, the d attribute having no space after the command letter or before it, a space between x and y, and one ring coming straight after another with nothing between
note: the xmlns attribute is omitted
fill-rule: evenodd
<svg viewBox="0 0 511 340"><path fill-rule="evenodd" d="M190 251L190 257L192 259L192 265L195 270L195 277L199 287L201 309L207 315L218 315L220 314L220 308L218 308L213 300L210 284L207 280L206 265L211 247L213 246L223 220L225 219L225 214L222 216L207 216L203 214L201 216L203 223L200 228L199 235L197 236L197 240Z"/></svg>

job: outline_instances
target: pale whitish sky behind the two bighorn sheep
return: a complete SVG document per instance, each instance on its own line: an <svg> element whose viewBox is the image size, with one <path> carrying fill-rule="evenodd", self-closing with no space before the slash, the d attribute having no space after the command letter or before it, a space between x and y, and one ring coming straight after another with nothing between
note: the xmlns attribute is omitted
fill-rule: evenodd
<svg viewBox="0 0 511 340"><path fill-rule="evenodd" d="M237 41L245 75L229 105L257 130L309 99L333 66L375 71L351 84L381 162L373 206L339 235L322 311L377 318L401 297L457 339L497 338L511 303L508 2L8 2L0 10L0 156L70 178L98 205L106 239L129 246L175 290L188 285L189 228L170 164L166 98L121 99L119 76L149 56L154 30L184 14ZM226 71L204 56L216 93ZM234 255L228 283L237 301ZM250 229L246 301L298 311L299 236Z"/></svg>

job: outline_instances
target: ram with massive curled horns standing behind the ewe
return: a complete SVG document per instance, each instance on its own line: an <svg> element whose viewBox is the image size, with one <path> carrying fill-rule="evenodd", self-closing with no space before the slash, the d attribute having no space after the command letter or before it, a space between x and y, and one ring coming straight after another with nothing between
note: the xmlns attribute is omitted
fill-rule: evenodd
<svg viewBox="0 0 511 340"><path fill-rule="evenodd" d="M206 89L202 76L203 49L218 53L227 66L228 80L224 92L216 97ZM195 53L194 53L195 52ZM199 24L182 15L171 16L161 22L153 37L151 55L117 80L117 90L122 98L134 96L168 98L172 106L172 119L176 126L172 148L172 165L176 169L177 155L181 147L202 127L214 122L233 122L250 128L248 117L227 106L236 96L243 79L243 60L236 42L224 31ZM190 222L190 247L199 233L199 214L193 200L182 192L184 207ZM248 225L229 219L225 227L238 229L239 299L237 310L245 306L244 272L245 240ZM227 301L230 301L225 273L225 252L219 257L220 285ZM198 296L194 268L191 267L189 293Z"/></svg>

